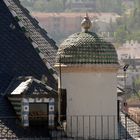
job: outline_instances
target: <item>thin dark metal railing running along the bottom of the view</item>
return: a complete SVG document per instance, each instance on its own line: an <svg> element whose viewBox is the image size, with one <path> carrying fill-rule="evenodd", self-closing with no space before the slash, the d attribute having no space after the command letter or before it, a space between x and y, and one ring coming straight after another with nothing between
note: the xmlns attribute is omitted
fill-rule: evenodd
<svg viewBox="0 0 140 140"><path fill-rule="evenodd" d="M37 116L37 119L34 116L30 118L29 127L22 127L17 117L0 117L0 139L115 140L138 139L140 136L140 126L122 113L119 122L116 116L74 115L62 118L67 119L58 122L55 117L54 126L49 127L47 116Z"/></svg>

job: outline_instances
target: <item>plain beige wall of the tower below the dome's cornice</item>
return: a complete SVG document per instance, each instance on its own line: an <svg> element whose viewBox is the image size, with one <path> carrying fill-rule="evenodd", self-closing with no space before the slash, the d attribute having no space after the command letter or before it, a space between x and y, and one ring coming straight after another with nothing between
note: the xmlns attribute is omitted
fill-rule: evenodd
<svg viewBox="0 0 140 140"><path fill-rule="evenodd" d="M117 88L116 73L63 73L62 87L67 89L67 128L68 133L83 136L83 119L70 116L84 117L84 137L89 137L89 124L91 137L101 139L117 138ZM89 122L89 115L90 118ZM95 124L94 115L97 124ZM104 117L101 118L100 115ZM110 116L109 118L107 116ZM108 120L109 119L109 120ZM78 120L78 121L77 121ZM71 128L71 122L73 124ZM109 123L108 123L109 122ZM109 130L108 130L109 128ZM94 133L96 129L96 134ZM103 131L103 134L102 134ZM109 132L108 132L109 131Z"/></svg>

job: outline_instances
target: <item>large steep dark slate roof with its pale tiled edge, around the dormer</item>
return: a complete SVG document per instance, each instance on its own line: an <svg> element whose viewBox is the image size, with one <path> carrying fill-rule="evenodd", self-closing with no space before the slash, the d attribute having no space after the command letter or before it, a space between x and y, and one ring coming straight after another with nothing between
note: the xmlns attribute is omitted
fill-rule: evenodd
<svg viewBox="0 0 140 140"><path fill-rule="evenodd" d="M57 89L57 74L52 67L56 51L55 42L18 0L0 0L0 139L48 135L42 126L41 131L39 127L20 127L16 113L3 93L19 86L20 80L12 81L19 76L44 79L50 89Z"/></svg>

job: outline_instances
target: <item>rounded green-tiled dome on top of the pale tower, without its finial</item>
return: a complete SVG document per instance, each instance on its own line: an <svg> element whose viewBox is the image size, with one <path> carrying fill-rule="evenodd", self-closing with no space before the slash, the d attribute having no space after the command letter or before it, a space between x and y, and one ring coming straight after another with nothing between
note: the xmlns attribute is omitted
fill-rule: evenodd
<svg viewBox="0 0 140 140"><path fill-rule="evenodd" d="M75 33L63 41L56 63L60 58L63 64L118 64L114 46L88 31Z"/></svg>

